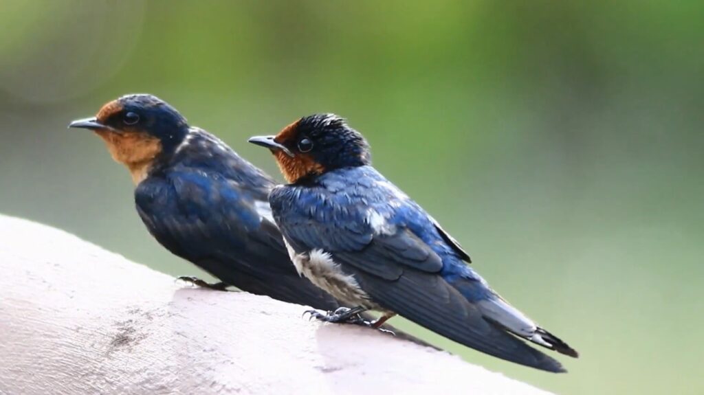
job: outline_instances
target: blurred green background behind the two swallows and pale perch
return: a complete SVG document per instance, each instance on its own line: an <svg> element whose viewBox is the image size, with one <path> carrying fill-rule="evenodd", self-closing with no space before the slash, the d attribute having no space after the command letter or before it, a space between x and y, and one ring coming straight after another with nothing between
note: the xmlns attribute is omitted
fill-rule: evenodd
<svg viewBox="0 0 704 395"><path fill-rule="evenodd" d="M246 138L337 112L582 358L550 375L404 328L562 394L704 393L704 2L0 7L0 212L201 275L149 236L127 171L68 122L154 93L280 180Z"/></svg>

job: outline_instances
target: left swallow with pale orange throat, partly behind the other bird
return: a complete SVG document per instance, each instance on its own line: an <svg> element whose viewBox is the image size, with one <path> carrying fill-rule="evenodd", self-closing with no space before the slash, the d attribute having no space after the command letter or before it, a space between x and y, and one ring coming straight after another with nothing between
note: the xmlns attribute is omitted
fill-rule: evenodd
<svg viewBox="0 0 704 395"><path fill-rule="evenodd" d="M69 127L94 131L127 167L137 212L151 235L221 283L184 280L220 290L232 285L326 311L341 308L291 264L267 200L271 177L212 134L190 127L168 103L146 94L122 96Z"/></svg>

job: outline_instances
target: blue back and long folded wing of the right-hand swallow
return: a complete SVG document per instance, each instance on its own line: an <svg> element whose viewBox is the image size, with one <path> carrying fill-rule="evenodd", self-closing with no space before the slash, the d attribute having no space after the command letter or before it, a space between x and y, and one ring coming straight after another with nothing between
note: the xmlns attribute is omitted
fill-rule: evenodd
<svg viewBox="0 0 704 395"><path fill-rule="evenodd" d="M488 354L564 371L558 361L484 318L475 302L498 295L465 264L469 255L372 167L279 186L269 200L296 252L325 250L384 309Z"/></svg>

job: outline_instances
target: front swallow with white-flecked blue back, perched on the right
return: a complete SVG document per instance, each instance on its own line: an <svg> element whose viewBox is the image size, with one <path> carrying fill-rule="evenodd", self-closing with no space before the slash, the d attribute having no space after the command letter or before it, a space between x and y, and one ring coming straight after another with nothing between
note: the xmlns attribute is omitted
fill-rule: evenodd
<svg viewBox="0 0 704 395"><path fill-rule="evenodd" d="M367 141L344 119L311 115L249 141L272 151L289 182L273 188L269 202L296 270L353 306L311 312L317 318L344 322L377 310L384 322L398 314L467 347L555 373L565 369L527 342L577 357L470 268L460 244L371 166Z"/></svg>

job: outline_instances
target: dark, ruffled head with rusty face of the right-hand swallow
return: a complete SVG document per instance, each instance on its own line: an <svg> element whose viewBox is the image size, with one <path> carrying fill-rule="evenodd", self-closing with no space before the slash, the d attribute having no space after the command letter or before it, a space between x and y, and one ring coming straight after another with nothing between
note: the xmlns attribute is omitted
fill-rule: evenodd
<svg viewBox="0 0 704 395"><path fill-rule="evenodd" d="M272 151L289 183L371 163L365 138L334 114L303 117L276 136L256 136L249 142Z"/></svg>

